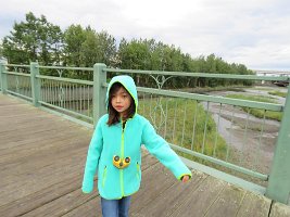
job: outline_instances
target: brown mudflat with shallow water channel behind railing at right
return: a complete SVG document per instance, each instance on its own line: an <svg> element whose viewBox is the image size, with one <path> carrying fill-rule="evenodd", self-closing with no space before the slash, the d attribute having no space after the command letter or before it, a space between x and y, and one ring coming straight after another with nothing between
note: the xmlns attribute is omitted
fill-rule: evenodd
<svg viewBox="0 0 290 217"><path fill-rule="evenodd" d="M249 95L266 95L279 90L287 92L287 88L254 87L241 91L215 91L207 94L227 95L231 93ZM270 95L278 104L285 104L285 98ZM205 104L204 104L205 105ZM205 106L204 106L205 107ZM220 113L219 113L220 111ZM269 174L275 143L280 123L277 120L256 118L242 111L241 107L210 103L210 112L218 126L219 135L226 140L230 162L263 174ZM219 115L220 114L220 115ZM248 122L247 122L248 119Z"/></svg>

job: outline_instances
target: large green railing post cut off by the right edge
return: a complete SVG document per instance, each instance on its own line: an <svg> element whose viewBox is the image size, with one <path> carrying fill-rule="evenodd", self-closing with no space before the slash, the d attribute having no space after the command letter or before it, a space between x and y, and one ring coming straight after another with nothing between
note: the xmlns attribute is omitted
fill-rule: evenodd
<svg viewBox="0 0 290 217"><path fill-rule="evenodd" d="M285 204L290 202L290 85L269 173L266 196Z"/></svg>

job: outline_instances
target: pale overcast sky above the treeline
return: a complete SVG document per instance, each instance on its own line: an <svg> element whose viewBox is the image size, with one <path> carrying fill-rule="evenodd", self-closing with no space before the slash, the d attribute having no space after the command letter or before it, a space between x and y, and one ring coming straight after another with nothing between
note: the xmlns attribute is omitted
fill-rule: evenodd
<svg viewBox="0 0 290 217"><path fill-rule="evenodd" d="M192 58L214 53L250 69L290 72L289 0L9 0L0 39L33 12L65 30L105 30L117 41L155 39Z"/></svg>

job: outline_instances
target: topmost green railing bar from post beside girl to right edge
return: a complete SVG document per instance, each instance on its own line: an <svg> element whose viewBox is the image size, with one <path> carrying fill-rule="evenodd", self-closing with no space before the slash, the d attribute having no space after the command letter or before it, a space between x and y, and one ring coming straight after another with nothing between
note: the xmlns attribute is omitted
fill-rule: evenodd
<svg viewBox="0 0 290 217"><path fill-rule="evenodd" d="M185 72L163 72L163 71L137 71L137 69L115 69L104 68L109 73L133 73L147 75L167 75L167 76L186 76L186 77L204 77L204 78L227 78L242 80L290 80L289 77L276 76L256 76L256 75L236 75L236 74L207 74L207 73L185 73Z"/></svg>

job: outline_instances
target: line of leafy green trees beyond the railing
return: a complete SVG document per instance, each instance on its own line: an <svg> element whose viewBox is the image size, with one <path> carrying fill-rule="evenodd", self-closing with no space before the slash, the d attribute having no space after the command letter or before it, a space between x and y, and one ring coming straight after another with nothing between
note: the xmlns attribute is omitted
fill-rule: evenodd
<svg viewBox="0 0 290 217"><path fill-rule="evenodd" d="M227 63L214 54L191 58L180 48L154 39L121 39L119 43L106 31L97 33L90 26L71 25L64 31L49 23L46 16L36 17L31 12L26 20L15 23L9 36L2 39L0 56L9 63L92 67L104 63L123 69L168 71L190 73L252 74L243 64ZM70 77L92 79L91 74L68 72ZM139 85L154 82L148 76L138 76ZM167 88L216 87L251 85L247 80L216 78L174 78Z"/></svg>

